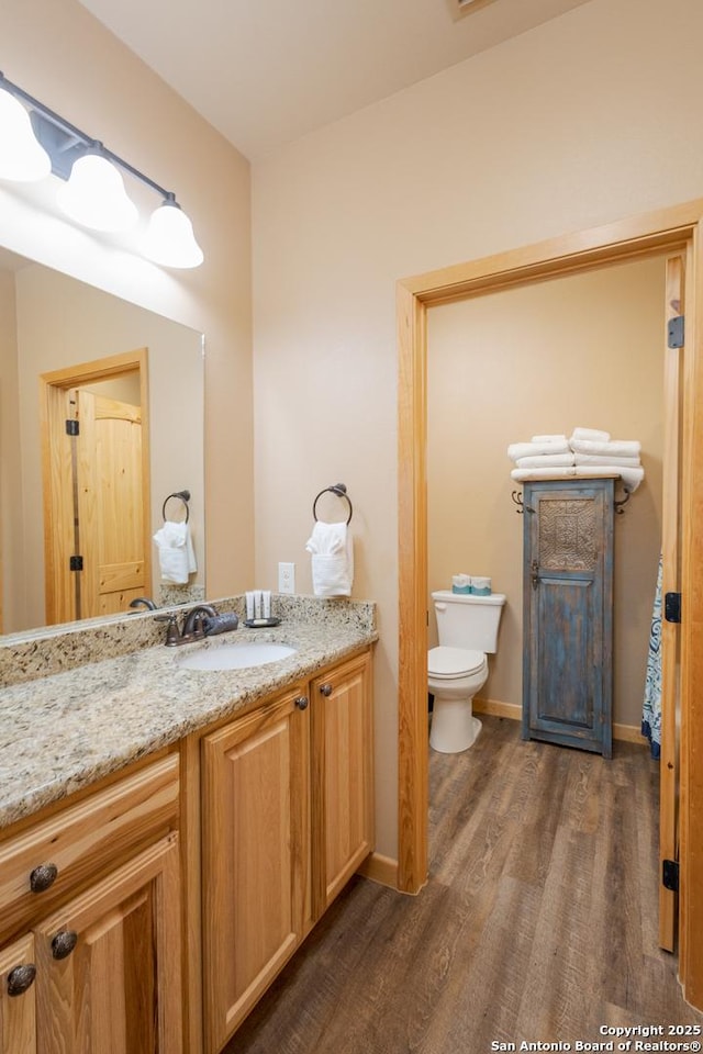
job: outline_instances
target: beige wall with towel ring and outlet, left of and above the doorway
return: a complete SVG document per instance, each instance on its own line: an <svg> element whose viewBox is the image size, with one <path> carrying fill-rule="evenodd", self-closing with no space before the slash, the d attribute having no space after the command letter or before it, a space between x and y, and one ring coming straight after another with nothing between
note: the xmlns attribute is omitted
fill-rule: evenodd
<svg viewBox="0 0 703 1054"><path fill-rule="evenodd" d="M676 74L662 71L672 33ZM310 502L333 480L347 483L354 592L380 604L378 845L389 855L394 283L699 197L702 38L698 0L591 0L254 166L257 580L272 585L276 562L295 560L309 588ZM618 529L632 530L634 517L623 519Z"/></svg>

